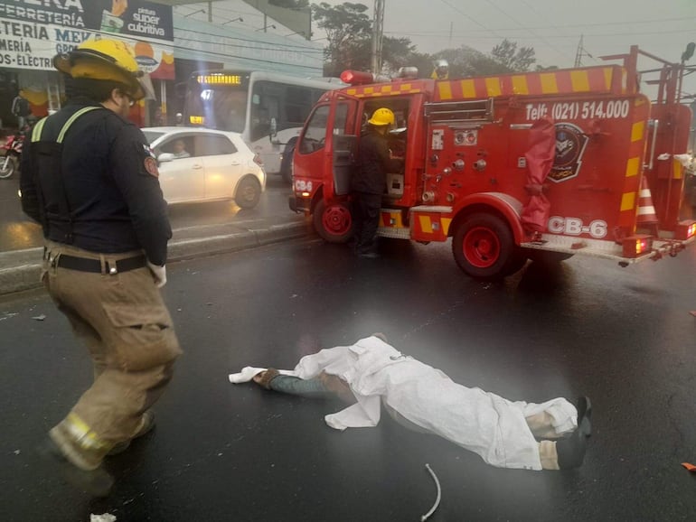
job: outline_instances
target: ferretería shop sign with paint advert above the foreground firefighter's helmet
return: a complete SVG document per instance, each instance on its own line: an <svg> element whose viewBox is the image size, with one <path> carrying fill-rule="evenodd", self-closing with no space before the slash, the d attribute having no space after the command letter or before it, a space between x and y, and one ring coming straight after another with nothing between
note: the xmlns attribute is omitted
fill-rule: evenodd
<svg viewBox="0 0 696 522"><path fill-rule="evenodd" d="M0 0L0 67L52 70L52 58L89 38L117 38L140 67L174 78L172 7L143 0Z"/></svg>

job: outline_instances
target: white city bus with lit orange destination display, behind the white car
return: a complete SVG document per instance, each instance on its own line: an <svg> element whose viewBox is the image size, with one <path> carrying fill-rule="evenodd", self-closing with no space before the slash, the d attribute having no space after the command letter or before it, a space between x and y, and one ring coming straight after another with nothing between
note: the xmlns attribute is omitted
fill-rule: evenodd
<svg viewBox="0 0 696 522"><path fill-rule="evenodd" d="M326 90L345 86L339 79L204 70L193 72L186 87L184 125L240 133L261 156L266 172L289 182L292 152L306 117Z"/></svg>

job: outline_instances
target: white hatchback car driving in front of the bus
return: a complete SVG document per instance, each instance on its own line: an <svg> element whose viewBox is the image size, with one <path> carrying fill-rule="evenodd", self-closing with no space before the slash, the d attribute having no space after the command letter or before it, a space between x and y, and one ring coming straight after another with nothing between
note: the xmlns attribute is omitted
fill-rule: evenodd
<svg viewBox="0 0 696 522"><path fill-rule="evenodd" d="M183 126L141 129L159 162L168 203L234 200L252 209L266 190L266 171L238 133Z"/></svg>

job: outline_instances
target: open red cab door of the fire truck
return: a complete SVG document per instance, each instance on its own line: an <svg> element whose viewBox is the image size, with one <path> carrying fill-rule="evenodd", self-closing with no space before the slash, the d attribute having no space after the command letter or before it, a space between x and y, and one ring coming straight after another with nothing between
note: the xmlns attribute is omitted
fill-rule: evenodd
<svg viewBox="0 0 696 522"><path fill-rule="evenodd" d="M334 195L343 196L351 190L351 175L355 163L356 147L358 144L358 129L356 115L358 114L358 99L344 96L336 97L329 109L329 121L326 126L325 154L326 165L324 172L332 173Z"/></svg>

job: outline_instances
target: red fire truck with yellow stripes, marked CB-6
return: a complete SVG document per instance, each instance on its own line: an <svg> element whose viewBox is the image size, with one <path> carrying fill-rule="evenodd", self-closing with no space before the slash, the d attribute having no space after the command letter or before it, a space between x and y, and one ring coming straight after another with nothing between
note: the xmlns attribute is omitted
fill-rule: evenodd
<svg viewBox="0 0 696 522"><path fill-rule="evenodd" d="M660 63L654 101L639 92L639 57ZM696 234L691 211L680 213L691 127L683 64L637 47L605 58L623 64L380 82L345 71L350 87L324 94L297 142L290 208L312 214L325 240L348 241L361 132L389 107L404 171L387 176L379 236L452 238L457 265L484 279L528 258L627 266L675 256Z"/></svg>

